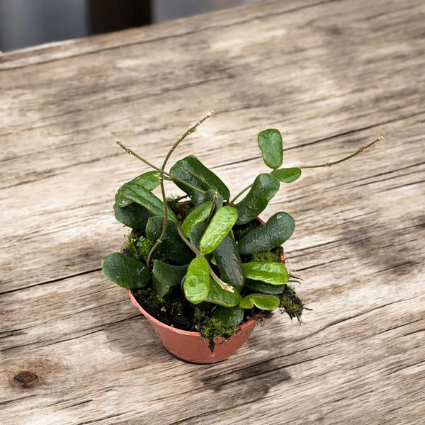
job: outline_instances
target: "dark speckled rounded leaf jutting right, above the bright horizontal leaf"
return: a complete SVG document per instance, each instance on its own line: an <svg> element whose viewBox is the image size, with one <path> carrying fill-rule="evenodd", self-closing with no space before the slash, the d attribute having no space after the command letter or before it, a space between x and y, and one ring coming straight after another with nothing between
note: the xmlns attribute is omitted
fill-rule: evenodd
<svg viewBox="0 0 425 425"><path fill-rule="evenodd" d="M295 230L295 220L286 212L276 212L267 222L242 237L237 249L241 255L265 252L288 240Z"/></svg>

